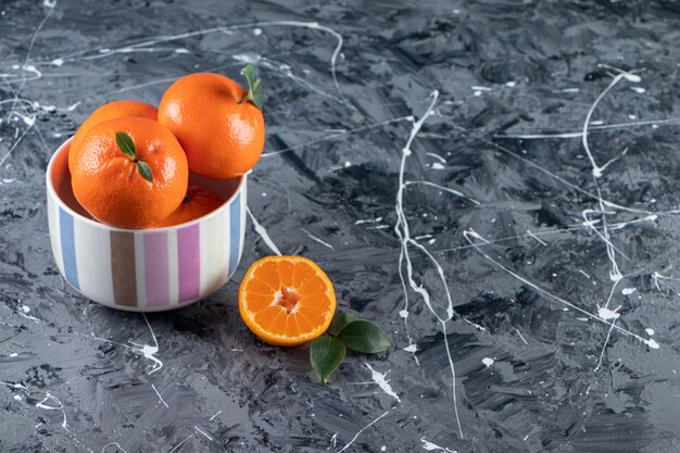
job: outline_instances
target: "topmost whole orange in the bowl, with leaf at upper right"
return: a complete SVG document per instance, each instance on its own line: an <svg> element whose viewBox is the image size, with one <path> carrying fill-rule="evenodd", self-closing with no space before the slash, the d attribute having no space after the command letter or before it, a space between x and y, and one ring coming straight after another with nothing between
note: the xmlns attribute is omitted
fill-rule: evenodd
<svg viewBox="0 0 680 453"><path fill-rule="evenodd" d="M175 134L189 168L226 179L251 169L264 147L262 111L249 92L219 74L190 74L163 95L159 122Z"/></svg>

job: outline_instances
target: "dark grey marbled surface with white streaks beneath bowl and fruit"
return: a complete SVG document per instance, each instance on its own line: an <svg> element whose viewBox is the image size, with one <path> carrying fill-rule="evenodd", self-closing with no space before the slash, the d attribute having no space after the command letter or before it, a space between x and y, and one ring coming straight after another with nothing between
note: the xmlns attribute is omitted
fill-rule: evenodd
<svg viewBox="0 0 680 453"><path fill-rule="evenodd" d="M0 451L680 450L670 1L0 3ZM241 266L143 316L72 291L45 169L98 105L263 79ZM254 226L260 227L254 228ZM244 268L318 262L394 345L322 387Z"/></svg>

